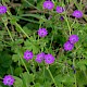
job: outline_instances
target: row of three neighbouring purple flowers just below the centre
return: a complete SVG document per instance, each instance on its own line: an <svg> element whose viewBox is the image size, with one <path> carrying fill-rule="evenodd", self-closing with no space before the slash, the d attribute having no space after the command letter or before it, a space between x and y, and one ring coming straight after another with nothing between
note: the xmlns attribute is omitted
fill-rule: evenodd
<svg viewBox="0 0 87 87"><path fill-rule="evenodd" d="M28 61L30 60L29 58L33 59L33 52L30 52L29 50L26 50L24 52L24 59ZM54 62L54 57L50 53L45 54L45 52L40 52L36 55L36 59L35 59L36 62L41 63L44 60L45 60L45 63L52 64Z"/></svg>

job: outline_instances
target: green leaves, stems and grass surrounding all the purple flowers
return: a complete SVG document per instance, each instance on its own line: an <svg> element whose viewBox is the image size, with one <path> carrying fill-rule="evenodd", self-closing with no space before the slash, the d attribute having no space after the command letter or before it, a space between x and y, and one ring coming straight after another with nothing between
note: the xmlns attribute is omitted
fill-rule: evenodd
<svg viewBox="0 0 87 87"><path fill-rule="evenodd" d="M8 12L0 14L0 87L2 78L13 75L13 87L86 87L87 86L87 4L86 0L51 0L54 10L42 8L45 0L2 0ZM55 7L65 7L57 13ZM74 10L84 13L82 18L72 16ZM50 20L49 16L51 15ZM64 20L60 20L63 16ZM48 35L40 38L37 30L45 27ZM78 35L79 41L72 51L63 45L70 35ZM34 53L28 62L25 50ZM51 53L53 64L37 63L37 53Z"/></svg>

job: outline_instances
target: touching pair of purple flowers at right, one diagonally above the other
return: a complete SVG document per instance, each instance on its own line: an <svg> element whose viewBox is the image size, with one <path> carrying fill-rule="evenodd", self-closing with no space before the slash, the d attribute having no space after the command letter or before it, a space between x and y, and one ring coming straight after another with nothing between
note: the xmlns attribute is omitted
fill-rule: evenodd
<svg viewBox="0 0 87 87"><path fill-rule="evenodd" d="M77 35L71 35L69 37L69 40L64 44L64 50L65 51L71 51L74 48L74 44L78 41L78 36Z"/></svg>

